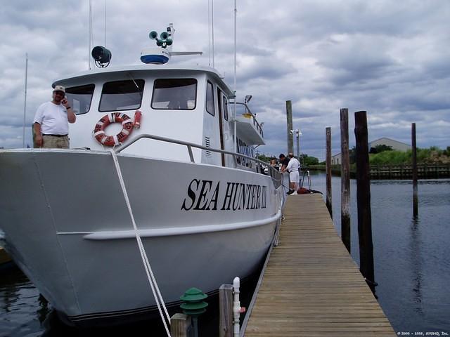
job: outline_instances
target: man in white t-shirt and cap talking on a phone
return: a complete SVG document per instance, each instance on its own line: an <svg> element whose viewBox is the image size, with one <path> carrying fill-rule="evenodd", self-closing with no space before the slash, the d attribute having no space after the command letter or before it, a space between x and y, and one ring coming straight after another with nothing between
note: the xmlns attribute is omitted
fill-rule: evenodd
<svg viewBox="0 0 450 337"><path fill-rule="evenodd" d="M53 99L41 104L34 114L34 147L69 148L69 123L77 117L65 98L65 88L55 86Z"/></svg>

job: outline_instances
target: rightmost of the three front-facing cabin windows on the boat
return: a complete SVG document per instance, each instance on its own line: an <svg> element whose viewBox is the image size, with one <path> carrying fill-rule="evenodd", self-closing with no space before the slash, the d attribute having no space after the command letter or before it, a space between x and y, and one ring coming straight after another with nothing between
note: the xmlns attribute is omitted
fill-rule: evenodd
<svg viewBox="0 0 450 337"><path fill-rule="evenodd" d="M155 79L152 108L159 110L194 110L196 79Z"/></svg>

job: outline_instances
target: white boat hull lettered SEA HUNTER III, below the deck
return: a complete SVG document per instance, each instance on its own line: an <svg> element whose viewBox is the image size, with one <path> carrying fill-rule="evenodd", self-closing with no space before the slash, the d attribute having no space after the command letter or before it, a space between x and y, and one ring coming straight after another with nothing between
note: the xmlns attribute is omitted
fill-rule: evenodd
<svg viewBox="0 0 450 337"><path fill-rule="evenodd" d="M255 271L281 218L269 176L117 158L167 304ZM110 152L5 150L0 178L5 248L58 312L89 325L155 309Z"/></svg>

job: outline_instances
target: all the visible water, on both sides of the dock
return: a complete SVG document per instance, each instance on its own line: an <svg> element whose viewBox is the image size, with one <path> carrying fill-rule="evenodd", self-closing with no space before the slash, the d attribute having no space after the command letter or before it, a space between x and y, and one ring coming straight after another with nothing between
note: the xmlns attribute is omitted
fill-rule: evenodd
<svg viewBox="0 0 450 337"><path fill-rule="evenodd" d="M312 173L312 188L325 192L325 175ZM333 177L333 214L340 232L340 178ZM442 331L450 336L450 180L420 180L419 215L412 216L410 181L373 180L372 228L376 294L397 333ZM356 181L351 180L352 258L359 262ZM243 289L250 300L255 279ZM200 317L200 336L217 336L217 298ZM0 270L0 336L165 336L159 322L78 330L63 325L51 305L18 269Z"/></svg>

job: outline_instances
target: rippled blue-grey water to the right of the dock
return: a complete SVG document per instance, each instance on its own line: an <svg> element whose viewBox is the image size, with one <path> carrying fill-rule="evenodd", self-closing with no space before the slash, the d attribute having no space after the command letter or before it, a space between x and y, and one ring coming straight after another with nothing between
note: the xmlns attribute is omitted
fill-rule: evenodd
<svg viewBox="0 0 450 337"><path fill-rule="evenodd" d="M312 188L325 194L325 175L311 174ZM356 180L350 189L352 258L359 263ZM332 196L340 234L340 177L332 178ZM371 211L376 295L394 330L450 336L450 180L419 181L417 219L410 180L373 180Z"/></svg>

